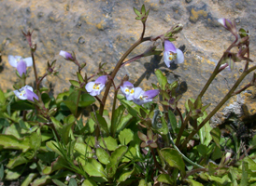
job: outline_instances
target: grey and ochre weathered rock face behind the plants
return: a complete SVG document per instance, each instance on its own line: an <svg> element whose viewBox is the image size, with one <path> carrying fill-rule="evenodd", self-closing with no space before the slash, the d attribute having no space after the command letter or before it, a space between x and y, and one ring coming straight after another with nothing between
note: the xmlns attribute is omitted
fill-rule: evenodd
<svg viewBox="0 0 256 186"><path fill-rule="evenodd" d="M100 62L107 62L107 68L113 69L141 34L142 25L135 20L133 7L139 9L143 4L150 8L145 36L163 34L178 22L184 25L175 45L184 51L185 61L167 69L162 57L147 57L123 67L116 77L117 82L128 74L135 86L149 89L151 83L156 83L154 69L160 68L170 81L178 79L181 83L182 104L189 97L195 98L224 49L235 39L220 26L219 18L235 19L238 29L249 30L250 58L255 60L254 0L0 0L0 87L13 89L12 85L17 81L15 69L8 64L7 56L30 56L21 30L34 29L39 74L45 72L47 60L57 60L57 64L62 65L58 77L49 76L43 82L44 86L51 84L55 95L70 86L68 80L76 79L77 72L73 63L58 55L60 50L75 51L79 62L87 62L84 72L89 75ZM127 60L142 53L149 45L145 43L137 47ZM235 63L235 71L218 75L203 101L216 105L233 86L242 68L243 63ZM251 75L243 85L250 78ZM27 82L32 84L33 80L31 72ZM250 102L254 100L252 93L247 97ZM110 104L111 100L108 106ZM254 113L252 109L251 112Z"/></svg>

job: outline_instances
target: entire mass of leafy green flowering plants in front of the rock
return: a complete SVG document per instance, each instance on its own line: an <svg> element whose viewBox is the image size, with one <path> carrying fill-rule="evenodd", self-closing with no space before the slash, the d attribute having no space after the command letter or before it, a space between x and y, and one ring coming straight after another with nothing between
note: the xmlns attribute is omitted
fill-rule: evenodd
<svg viewBox="0 0 256 186"><path fill-rule="evenodd" d="M26 65L19 66L21 58L9 57L19 81L12 91L0 89L0 179L4 182L21 180L21 185L256 185L256 137L245 141L237 138L235 129L227 126L230 136L222 136L219 127L213 128L209 119L232 96L249 86L255 86L255 73L251 82L236 90L241 81L256 66L249 68L249 33L235 23L220 19L220 23L235 35L234 43L220 58L206 85L195 99L185 104L185 112L178 108L181 95L178 82L168 83L164 73L157 69L158 85L144 91L121 79L114 79L127 63L164 51L169 62L183 62L183 53L171 41L182 30L177 24L166 33L144 37L149 10L135 9L136 20L143 25L141 37L107 73L105 64L87 76L74 52L61 51L65 60L78 66L77 80L69 80L68 91L53 97L47 87L41 87L48 75L58 75L56 60L47 63L47 71L36 73L36 44L33 32L22 32L31 49L35 73L35 92L26 85ZM163 46L157 47L160 40ZM136 46L152 42L149 49L131 60L123 61ZM168 41L164 45L164 41ZM168 45L168 46L167 46ZM169 47L170 49L168 49ZM238 48L238 49L237 49ZM236 53L230 52L231 49ZM180 53L181 52L181 53ZM176 60L178 58L178 60ZM203 96L213 79L235 62L245 60L245 68L235 85L210 113ZM24 68L25 67L25 68ZM85 75L82 73L85 71ZM95 81L90 81L93 77ZM114 88L112 110L105 110L110 87ZM106 88L105 88L106 87ZM104 90L105 88L105 90ZM124 95L118 94L119 89ZM103 97L100 96L104 90ZM19 94L20 93L20 94ZM152 99L159 94L159 100ZM31 95L31 96L29 96ZM19 98L19 99L18 99ZM21 100L20 100L21 99ZM97 109L96 100L100 108ZM119 101L117 103L117 101ZM116 108L116 106L118 107ZM86 111L90 111L89 116Z"/></svg>

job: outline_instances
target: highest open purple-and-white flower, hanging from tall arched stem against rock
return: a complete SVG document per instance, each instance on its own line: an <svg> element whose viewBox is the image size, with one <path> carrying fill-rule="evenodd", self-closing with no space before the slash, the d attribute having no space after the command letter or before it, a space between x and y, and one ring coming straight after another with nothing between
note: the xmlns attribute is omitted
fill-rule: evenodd
<svg viewBox="0 0 256 186"><path fill-rule="evenodd" d="M164 62L169 68L170 63L174 62L175 64L182 63L184 61L183 52L176 48L172 42L169 40L164 40Z"/></svg>

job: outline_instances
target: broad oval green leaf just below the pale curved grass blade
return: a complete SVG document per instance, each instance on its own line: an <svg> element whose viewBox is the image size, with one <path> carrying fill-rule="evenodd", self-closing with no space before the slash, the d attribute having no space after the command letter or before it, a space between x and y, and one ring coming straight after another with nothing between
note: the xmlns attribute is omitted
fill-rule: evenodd
<svg viewBox="0 0 256 186"><path fill-rule="evenodd" d="M185 164L177 150L171 148L164 148L160 151L160 153L164 158L164 161L169 166L178 168L182 177L186 175Z"/></svg>

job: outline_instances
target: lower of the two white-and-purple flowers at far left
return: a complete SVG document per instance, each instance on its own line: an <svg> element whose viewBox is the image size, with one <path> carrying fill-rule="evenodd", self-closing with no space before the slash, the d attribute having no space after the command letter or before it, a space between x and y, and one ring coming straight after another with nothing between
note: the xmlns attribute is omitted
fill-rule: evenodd
<svg viewBox="0 0 256 186"><path fill-rule="evenodd" d="M31 86L23 86L19 90L14 90L14 94L21 100L32 100L34 98L38 100L38 96L33 92L33 87Z"/></svg>

